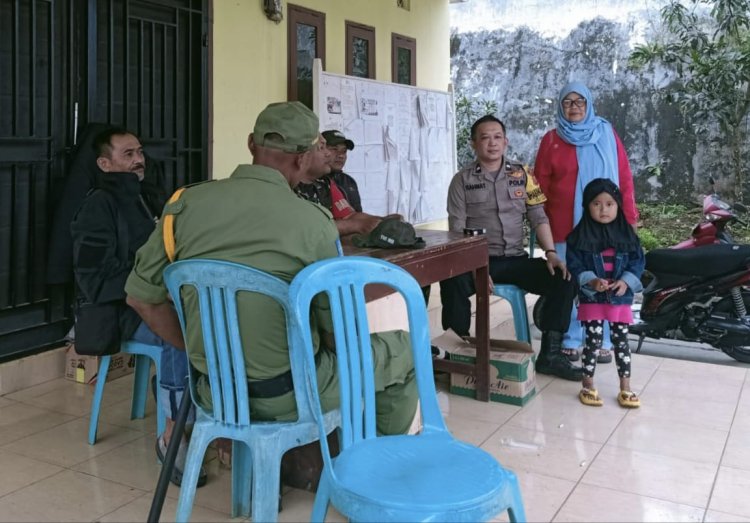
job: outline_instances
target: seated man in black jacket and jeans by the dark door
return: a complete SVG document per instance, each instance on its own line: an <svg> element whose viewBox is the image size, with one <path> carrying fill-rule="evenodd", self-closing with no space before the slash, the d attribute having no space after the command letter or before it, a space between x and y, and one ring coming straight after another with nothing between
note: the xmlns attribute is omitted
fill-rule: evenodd
<svg viewBox="0 0 750 523"><path fill-rule="evenodd" d="M122 340L133 339L162 347L159 406L166 410L167 426L157 437L156 452L163 460L172 435L174 418L185 392L187 355L166 343L125 304L125 281L133 268L136 251L154 230L160 209L150 208L141 195L146 164L138 138L125 129L110 128L94 139L96 164L100 170L96 185L71 223L73 268L78 296L88 303L121 304L119 328ZM177 455L172 482L182 482L187 451L183 444ZM201 471L198 486L205 484Z"/></svg>

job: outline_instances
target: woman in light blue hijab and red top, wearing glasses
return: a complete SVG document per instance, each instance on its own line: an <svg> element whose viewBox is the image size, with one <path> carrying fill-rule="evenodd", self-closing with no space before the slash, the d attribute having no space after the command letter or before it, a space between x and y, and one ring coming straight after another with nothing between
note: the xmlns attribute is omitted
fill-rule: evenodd
<svg viewBox="0 0 750 523"><path fill-rule="evenodd" d="M583 215L583 190L596 178L611 180L619 187L625 219L633 227L638 221L625 147L612 124L596 115L594 97L580 82L570 82L560 91L557 128L547 132L539 144L534 175L547 196L544 210L560 257L565 257L565 239ZM577 317L572 320L563 338L563 352L576 361L583 346L583 330ZM604 339L609 348L608 333ZM600 351L597 361L612 361L609 350Z"/></svg>

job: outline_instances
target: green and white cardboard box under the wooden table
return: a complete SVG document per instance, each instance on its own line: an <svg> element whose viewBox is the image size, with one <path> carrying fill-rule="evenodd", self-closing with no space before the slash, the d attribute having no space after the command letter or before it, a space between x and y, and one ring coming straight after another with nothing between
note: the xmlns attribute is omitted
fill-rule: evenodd
<svg viewBox="0 0 750 523"><path fill-rule="evenodd" d="M450 353L451 361L474 363L476 340L448 331L432 343ZM534 350L528 343L490 339L490 400L522 406L536 394ZM451 373L452 394L475 397L476 378Z"/></svg>

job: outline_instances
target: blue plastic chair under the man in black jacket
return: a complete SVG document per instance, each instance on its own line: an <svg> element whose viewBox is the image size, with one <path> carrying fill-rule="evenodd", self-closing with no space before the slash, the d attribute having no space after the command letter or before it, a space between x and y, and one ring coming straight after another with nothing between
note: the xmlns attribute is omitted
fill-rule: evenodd
<svg viewBox="0 0 750 523"><path fill-rule="evenodd" d="M151 375L151 362L156 366L156 379L161 378L159 361L161 358L161 347L147 345L137 341L124 341L120 345L120 352L135 356L135 377L133 379L133 400L130 407L130 419L144 418L146 416L146 400L148 399L149 377ZM99 411L102 406L104 385L107 382L107 373L112 356L102 356L99 361L99 371L96 378L94 397L91 400L91 419L89 420L89 445L96 443L96 432L99 427ZM156 433L164 432L166 417L159 408L158 395L156 403Z"/></svg>

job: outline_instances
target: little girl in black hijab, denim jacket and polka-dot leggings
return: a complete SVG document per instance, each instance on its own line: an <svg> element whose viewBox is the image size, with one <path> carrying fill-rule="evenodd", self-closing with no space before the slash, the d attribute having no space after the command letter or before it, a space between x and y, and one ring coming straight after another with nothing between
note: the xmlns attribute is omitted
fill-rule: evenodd
<svg viewBox="0 0 750 523"><path fill-rule="evenodd" d="M603 323L610 324L622 407L636 408L640 399L630 390L628 325L633 323L633 294L642 290L645 265L635 230L622 212L622 194L614 182L597 178L583 191L583 217L567 238L568 270L578 282L578 319L586 333L583 349L584 405L603 405L594 387L596 355L602 346Z"/></svg>

